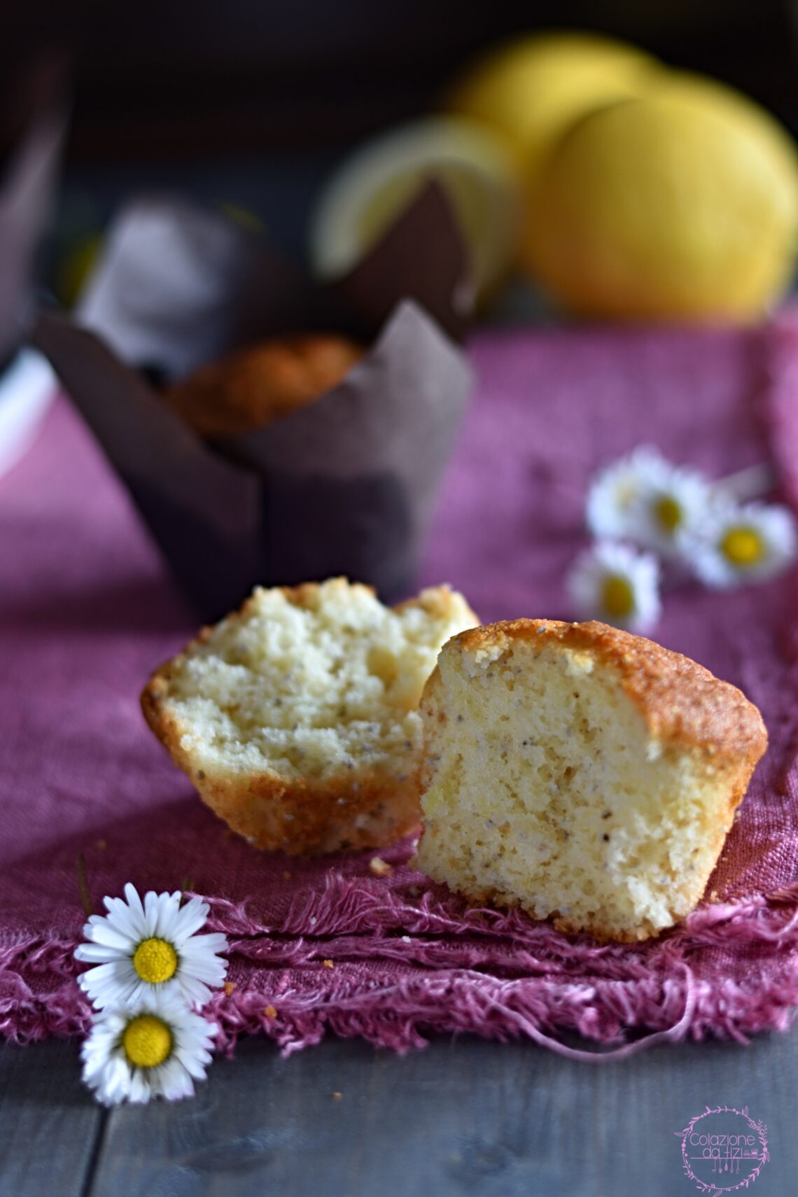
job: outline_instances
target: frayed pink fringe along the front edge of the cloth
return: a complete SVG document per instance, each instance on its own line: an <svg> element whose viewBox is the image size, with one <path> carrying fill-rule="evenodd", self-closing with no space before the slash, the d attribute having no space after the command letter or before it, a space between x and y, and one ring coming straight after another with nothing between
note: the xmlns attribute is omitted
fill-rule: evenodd
<svg viewBox="0 0 798 1197"><path fill-rule="evenodd" d="M653 943L602 948L514 911L452 915L437 905L432 892L407 906L401 894L378 895L341 876L330 877L324 892L306 898L301 910L294 904L279 930L252 919L244 905L209 903L209 925L229 935L231 959L256 959L263 968L261 977L215 994L205 1008L219 1026L217 1046L227 1055L240 1035L258 1033L274 1039L285 1056L319 1043L328 1032L361 1037L400 1053L425 1046L428 1034L471 1033L502 1041L526 1038L560 1056L593 1063L686 1039L747 1043L756 1032L786 1031L798 1005L798 887L768 899L699 909ZM355 930L353 913L357 929L371 931L360 944L364 954L391 956L384 949L400 944L385 931L402 916L398 926L415 936L451 936L457 924L467 938L453 947L473 956L473 965L482 962L480 938L485 946L504 936L510 941L504 971L525 966L537 974L507 979L469 967L467 959L440 967L440 941L414 938L409 946L402 942L402 955L418 974L347 985L346 978L328 973L324 984L286 989L288 960L290 966L318 962L328 952L341 958L340 941L319 944L315 936L329 935L342 922L339 930L346 938ZM78 942L39 936L0 947L0 1034L31 1043L89 1029L91 1010L75 980ZM701 958L718 949L731 949L743 960L750 954L759 968L767 961L772 972L756 985L707 978ZM706 972L713 968L714 961ZM33 990L31 982L38 977L41 990ZM565 1033L578 1033L605 1050L571 1047L556 1038Z"/></svg>

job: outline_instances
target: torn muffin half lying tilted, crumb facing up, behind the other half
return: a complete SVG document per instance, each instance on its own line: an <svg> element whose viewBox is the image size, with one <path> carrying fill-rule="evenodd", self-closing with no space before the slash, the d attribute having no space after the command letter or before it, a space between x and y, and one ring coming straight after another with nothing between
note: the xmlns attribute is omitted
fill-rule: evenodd
<svg viewBox="0 0 798 1197"><path fill-rule="evenodd" d="M449 587L396 608L343 578L257 589L153 674L144 713L258 846L379 846L419 822L421 691L441 645L476 622Z"/></svg>

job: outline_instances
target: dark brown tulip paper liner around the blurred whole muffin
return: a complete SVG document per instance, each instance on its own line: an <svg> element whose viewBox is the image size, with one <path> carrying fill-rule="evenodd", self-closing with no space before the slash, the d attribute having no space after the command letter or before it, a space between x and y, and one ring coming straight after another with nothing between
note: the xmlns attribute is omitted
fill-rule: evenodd
<svg viewBox="0 0 798 1197"><path fill-rule="evenodd" d="M469 303L465 250L434 183L330 286L232 221L153 198L121 213L77 318L42 310L32 342L213 620L255 584L343 573L388 601L412 589L471 389L452 340ZM371 347L339 385L254 432L202 440L147 381L315 329Z"/></svg>

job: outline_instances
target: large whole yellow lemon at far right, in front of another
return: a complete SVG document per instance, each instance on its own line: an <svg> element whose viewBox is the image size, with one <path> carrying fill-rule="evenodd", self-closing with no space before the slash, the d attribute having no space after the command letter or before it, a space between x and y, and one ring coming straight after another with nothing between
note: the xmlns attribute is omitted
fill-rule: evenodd
<svg viewBox="0 0 798 1197"><path fill-rule="evenodd" d="M523 257L580 315L750 318L787 284L797 235L787 134L731 89L663 72L565 134L531 189Z"/></svg>

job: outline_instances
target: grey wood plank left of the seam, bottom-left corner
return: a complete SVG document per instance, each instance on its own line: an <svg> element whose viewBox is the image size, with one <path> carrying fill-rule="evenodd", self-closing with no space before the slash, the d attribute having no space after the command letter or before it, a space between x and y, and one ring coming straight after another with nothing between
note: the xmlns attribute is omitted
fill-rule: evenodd
<svg viewBox="0 0 798 1197"><path fill-rule="evenodd" d="M105 1111L80 1082L77 1040L0 1046L0 1195L83 1197Z"/></svg>

